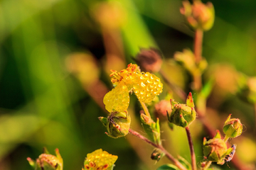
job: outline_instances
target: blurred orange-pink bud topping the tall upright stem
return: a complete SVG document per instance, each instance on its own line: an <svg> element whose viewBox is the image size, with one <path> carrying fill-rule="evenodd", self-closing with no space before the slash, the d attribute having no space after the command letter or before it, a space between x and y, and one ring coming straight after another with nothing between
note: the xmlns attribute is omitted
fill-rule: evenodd
<svg viewBox="0 0 256 170"><path fill-rule="evenodd" d="M194 29L210 30L213 27L215 12L210 2L203 4L201 1L194 1L191 5L188 1L183 1L180 11Z"/></svg>

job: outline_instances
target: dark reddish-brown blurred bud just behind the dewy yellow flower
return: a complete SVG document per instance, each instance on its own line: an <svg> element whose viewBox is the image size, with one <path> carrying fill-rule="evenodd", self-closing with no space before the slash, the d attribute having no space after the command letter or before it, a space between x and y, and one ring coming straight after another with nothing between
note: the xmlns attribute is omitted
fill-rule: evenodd
<svg viewBox="0 0 256 170"><path fill-rule="evenodd" d="M142 48L136 56L136 62L143 72L159 72L162 59L161 52L153 47L149 49Z"/></svg>

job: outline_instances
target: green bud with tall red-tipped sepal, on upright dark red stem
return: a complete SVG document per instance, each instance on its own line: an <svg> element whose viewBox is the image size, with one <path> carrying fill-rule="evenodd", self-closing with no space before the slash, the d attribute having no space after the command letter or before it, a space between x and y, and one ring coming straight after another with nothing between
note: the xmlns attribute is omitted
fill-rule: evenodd
<svg viewBox="0 0 256 170"><path fill-rule="evenodd" d="M167 114L170 123L186 128L196 119L192 94L188 94L187 104L178 104L171 99L171 114Z"/></svg>

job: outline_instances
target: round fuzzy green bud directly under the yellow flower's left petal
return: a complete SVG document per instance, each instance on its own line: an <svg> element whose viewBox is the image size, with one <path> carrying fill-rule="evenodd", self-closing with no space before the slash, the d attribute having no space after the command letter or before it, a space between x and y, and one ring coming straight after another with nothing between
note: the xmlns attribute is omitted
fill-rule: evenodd
<svg viewBox="0 0 256 170"><path fill-rule="evenodd" d="M131 117L127 111L112 111L107 118L100 117L99 120L107 128L106 134L109 137L123 137L129 132Z"/></svg>

